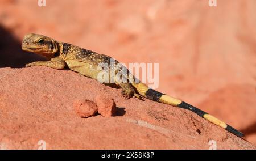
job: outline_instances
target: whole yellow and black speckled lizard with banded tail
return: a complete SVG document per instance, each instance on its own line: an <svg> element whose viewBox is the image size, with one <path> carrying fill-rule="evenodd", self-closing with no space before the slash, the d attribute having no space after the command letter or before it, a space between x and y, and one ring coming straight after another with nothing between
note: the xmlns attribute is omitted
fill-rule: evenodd
<svg viewBox="0 0 256 161"><path fill-rule="evenodd" d="M37 61L28 63L26 67L30 66L48 66L54 69L64 69L67 67L70 70L76 71L86 77L96 79L98 81L98 74L102 71L102 69L98 68L100 63L106 63L110 69L115 65L117 68L114 69L114 75L116 75L122 69L127 70L125 67L119 65L118 61L114 61L114 63L110 63L111 57L98 54L96 52L92 52L90 50L86 50L80 48L79 46L62 43L56 40L53 40L47 36L37 35L34 33L27 34L24 36L22 42L22 49L27 52L33 52L36 54L40 54L49 59L49 61ZM127 70L127 73L129 71ZM238 130L232 128L228 124L218 120L217 118L209 115L208 113L201 111L200 109L193 107L192 105L185 103L179 99L172 98L171 96L162 94L158 91L152 90L148 88L148 86L141 82L135 82L135 77L130 78L127 75L123 75L126 79L127 83L122 83L118 81L118 79L114 79L115 83L104 83L111 87L121 87L122 95L125 96L126 99L131 98L132 96L136 96L139 99L142 97L154 100L164 104L170 104L175 107L188 109L196 113L197 115L205 118L206 120L212 122L213 124L220 126L228 130L238 137L243 137L243 134ZM113 78L113 75L109 72L109 81L110 78Z"/></svg>

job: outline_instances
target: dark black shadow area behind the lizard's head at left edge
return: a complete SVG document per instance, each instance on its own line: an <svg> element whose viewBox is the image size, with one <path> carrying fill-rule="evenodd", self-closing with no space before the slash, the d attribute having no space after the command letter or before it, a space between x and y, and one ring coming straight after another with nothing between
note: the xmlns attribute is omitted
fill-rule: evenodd
<svg viewBox="0 0 256 161"><path fill-rule="evenodd" d="M33 61L46 61L46 58L33 53L23 52L22 40L15 37L0 24L0 67L21 68Z"/></svg>

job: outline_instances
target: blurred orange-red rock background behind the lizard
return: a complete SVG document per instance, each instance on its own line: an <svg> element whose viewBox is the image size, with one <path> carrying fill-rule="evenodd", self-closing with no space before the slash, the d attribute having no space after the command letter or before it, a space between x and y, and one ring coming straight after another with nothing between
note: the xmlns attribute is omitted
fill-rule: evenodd
<svg viewBox="0 0 256 161"><path fill-rule="evenodd" d="M117 60L159 63L159 90L242 130L256 145L256 1L2 0L0 67L42 57L22 52L40 33Z"/></svg>

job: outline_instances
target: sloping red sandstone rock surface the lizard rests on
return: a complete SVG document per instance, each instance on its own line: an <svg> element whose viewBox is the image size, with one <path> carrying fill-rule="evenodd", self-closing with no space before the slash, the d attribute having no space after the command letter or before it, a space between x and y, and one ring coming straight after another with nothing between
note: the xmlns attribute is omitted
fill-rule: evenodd
<svg viewBox="0 0 256 161"><path fill-rule="evenodd" d="M69 70L0 69L1 149L256 149L185 109L125 100L121 90ZM73 102L111 96L115 117L80 118Z"/></svg>

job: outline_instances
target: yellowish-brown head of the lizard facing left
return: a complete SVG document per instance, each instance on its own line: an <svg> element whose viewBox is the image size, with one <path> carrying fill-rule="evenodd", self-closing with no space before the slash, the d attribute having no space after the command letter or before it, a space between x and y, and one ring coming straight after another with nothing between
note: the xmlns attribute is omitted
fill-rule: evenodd
<svg viewBox="0 0 256 161"><path fill-rule="evenodd" d="M22 50L52 58L59 49L57 41L50 37L29 33L24 36Z"/></svg>

